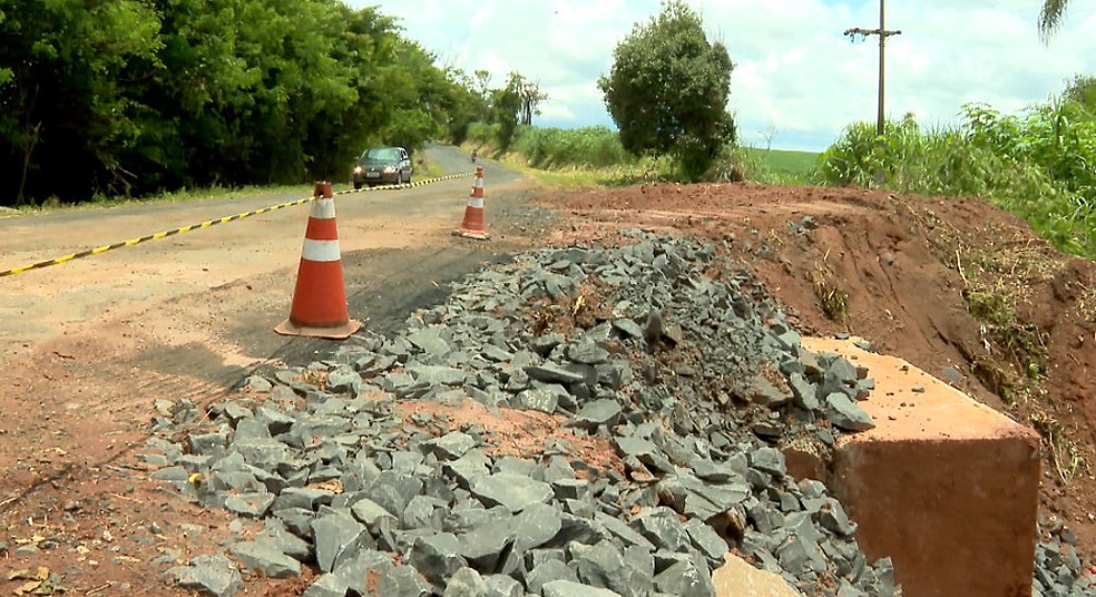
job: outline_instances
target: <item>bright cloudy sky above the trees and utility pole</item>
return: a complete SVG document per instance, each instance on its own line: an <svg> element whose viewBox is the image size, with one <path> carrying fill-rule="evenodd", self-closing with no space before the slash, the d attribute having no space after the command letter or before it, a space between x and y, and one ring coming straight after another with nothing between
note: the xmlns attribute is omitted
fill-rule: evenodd
<svg viewBox="0 0 1096 597"><path fill-rule="evenodd" d="M485 69L493 87L518 71L549 95L534 124L613 126L597 79L613 50L658 0L344 0L397 17L439 65ZM710 40L735 63L727 108L740 140L756 147L822 150L849 124L874 123L879 2L859 0L689 0ZM1044 45L1041 0L889 2L885 111L922 126L957 121L963 104L1017 112L1059 92L1076 74L1096 75L1096 0L1073 0Z"/></svg>

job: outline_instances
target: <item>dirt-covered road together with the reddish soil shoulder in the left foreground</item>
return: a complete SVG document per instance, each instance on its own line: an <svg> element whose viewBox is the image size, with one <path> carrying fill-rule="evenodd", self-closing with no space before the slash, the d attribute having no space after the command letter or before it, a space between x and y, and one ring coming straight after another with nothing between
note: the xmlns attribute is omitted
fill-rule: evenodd
<svg viewBox="0 0 1096 597"><path fill-rule="evenodd" d="M431 147L429 156L448 173L473 169L452 148ZM527 207L519 175L481 164L490 243L451 235L470 177L336 198L351 316L378 331L391 329L443 296L450 280L529 244L547 212ZM311 192L0 219L0 270ZM37 546L41 552L22 558L23 565L60 569L69 588L87 589L144 586L141 562L176 545L184 558L184 544L200 546L194 532L172 532L185 528L173 520L199 518L175 511L180 505L170 496L146 493L150 485L140 480L147 471L131 469L133 448L145 441L140 425L150 421L155 400L207 402L252 371L309 362L332 346L272 331L288 315L309 209L278 209L0 278L0 520L8 530L0 554ZM140 502L144 508L134 506ZM146 527L154 521L173 540L151 537ZM118 528L135 523L149 538L124 544ZM112 541L105 541L102 531L110 529ZM69 549L52 548L50 532ZM91 552L72 552L71 542L82 536L80 545ZM131 560L96 557L95 542L104 549L125 545L119 552ZM164 594L163 587L149 590Z"/></svg>

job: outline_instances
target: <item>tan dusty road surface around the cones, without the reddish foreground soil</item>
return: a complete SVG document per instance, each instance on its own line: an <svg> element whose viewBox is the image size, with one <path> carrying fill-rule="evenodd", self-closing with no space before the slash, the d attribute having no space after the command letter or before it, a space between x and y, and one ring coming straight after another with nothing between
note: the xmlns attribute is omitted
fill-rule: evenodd
<svg viewBox="0 0 1096 597"><path fill-rule="evenodd" d="M447 173L476 167L452 147L427 151ZM487 242L451 234L463 217L471 177L336 196L351 317L390 331L415 309L442 300L448 282L507 260L537 236L550 216L528 206L529 183L490 160L477 165L485 167ZM306 186L295 196L2 218L0 270L311 194ZM120 413L138 401L147 407L149 395L202 400L249 372L306 364L333 349L332 341L273 332L288 315L310 205L0 278L3 365L28 370L9 375L22 383L9 380L18 385L7 392L26 392L30 371L43 359L59 360L96 408L111 404Z"/></svg>

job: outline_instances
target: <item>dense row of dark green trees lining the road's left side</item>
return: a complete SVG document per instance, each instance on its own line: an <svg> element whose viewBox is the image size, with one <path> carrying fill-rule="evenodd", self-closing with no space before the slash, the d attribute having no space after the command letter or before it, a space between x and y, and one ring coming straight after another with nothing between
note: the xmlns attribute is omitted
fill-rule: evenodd
<svg viewBox="0 0 1096 597"><path fill-rule="evenodd" d="M468 82L340 0L7 0L0 205L341 179L467 129Z"/></svg>

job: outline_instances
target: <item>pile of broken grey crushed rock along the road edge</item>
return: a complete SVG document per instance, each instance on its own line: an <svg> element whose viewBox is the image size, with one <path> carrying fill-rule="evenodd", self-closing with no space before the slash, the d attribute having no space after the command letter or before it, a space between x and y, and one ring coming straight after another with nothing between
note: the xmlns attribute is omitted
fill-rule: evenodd
<svg viewBox="0 0 1096 597"><path fill-rule="evenodd" d="M708 596L730 552L805 595L900 595L777 449L872 427L867 372L804 350L716 246L632 236L518 255L402 333L175 404L155 476L265 534L172 581L227 596L311 565L309 597ZM1040 586L1080 587L1048 549Z"/></svg>

